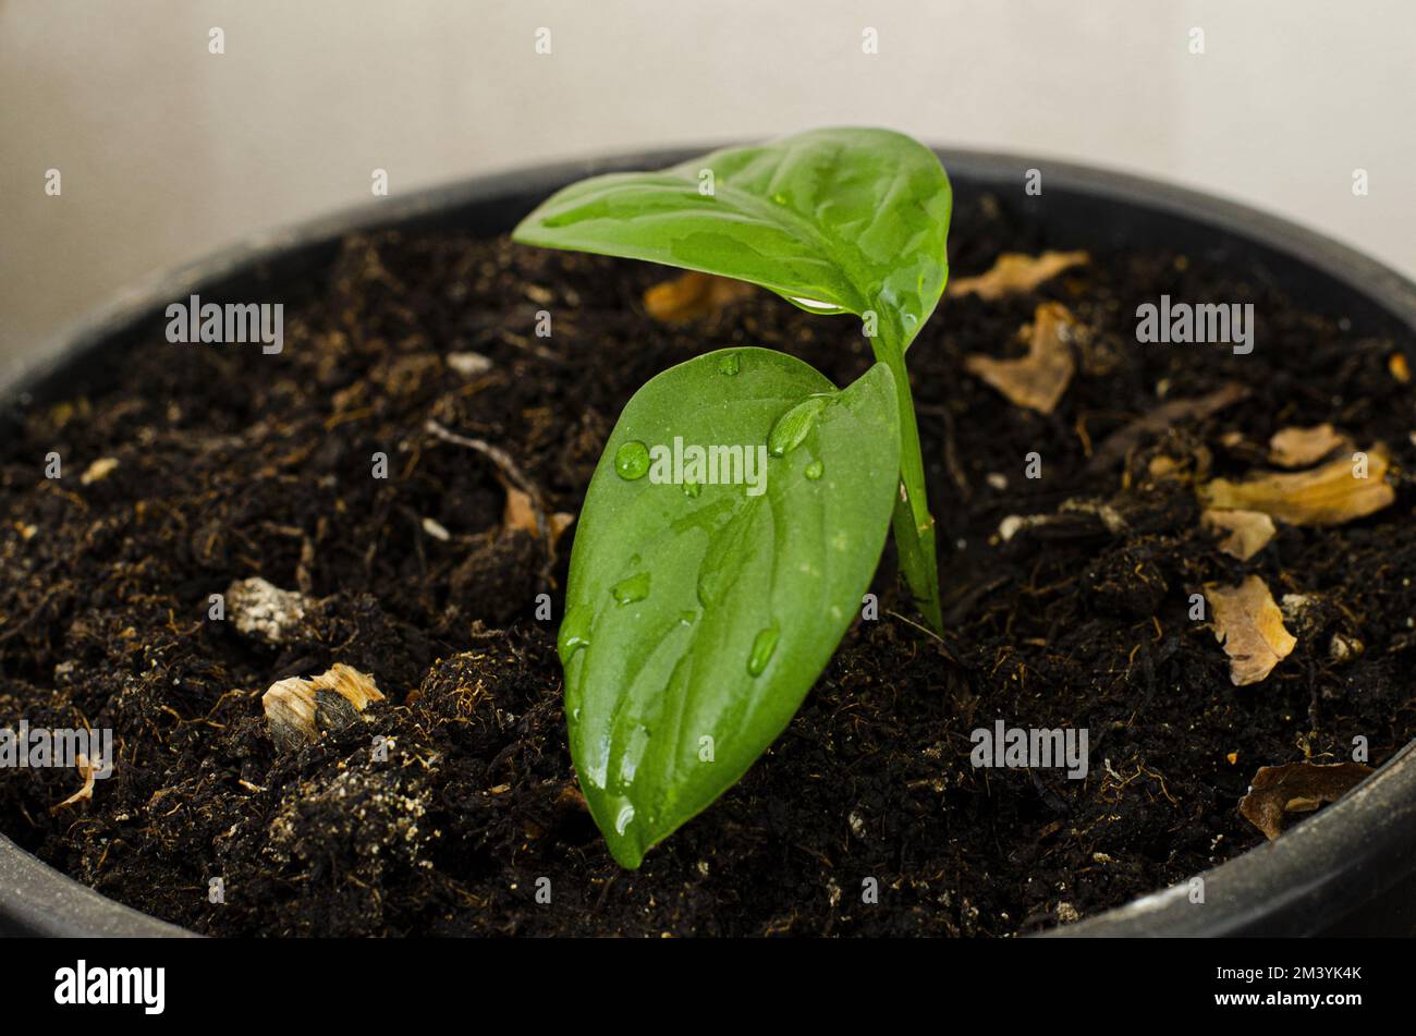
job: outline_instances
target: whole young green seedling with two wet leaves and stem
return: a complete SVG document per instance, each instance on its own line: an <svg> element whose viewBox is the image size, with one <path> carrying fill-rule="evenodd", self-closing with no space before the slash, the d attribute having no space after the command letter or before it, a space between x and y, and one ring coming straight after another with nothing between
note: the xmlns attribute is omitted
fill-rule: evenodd
<svg viewBox="0 0 1416 1036"><path fill-rule="evenodd" d="M827 129L583 180L513 235L855 314L877 361L838 389L782 352L708 352L653 378L610 433L558 648L571 756L626 868L782 733L861 607L886 528L942 626L905 352L944 290L950 204L918 142ZM709 478L708 459L749 478Z"/></svg>

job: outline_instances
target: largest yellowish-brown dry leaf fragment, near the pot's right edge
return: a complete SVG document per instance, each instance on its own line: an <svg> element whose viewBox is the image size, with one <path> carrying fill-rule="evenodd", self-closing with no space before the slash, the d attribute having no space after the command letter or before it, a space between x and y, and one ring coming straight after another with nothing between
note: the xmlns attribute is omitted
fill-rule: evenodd
<svg viewBox="0 0 1416 1036"><path fill-rule="evenodd" d="M1239 483L1215 478L1199 488L1199 498L1209 508L1263 511L1290 525L1341 525L1396 500L1385 481L1388 463L1386 451L1374 446L1311 471L1262 471Z"/></svg>

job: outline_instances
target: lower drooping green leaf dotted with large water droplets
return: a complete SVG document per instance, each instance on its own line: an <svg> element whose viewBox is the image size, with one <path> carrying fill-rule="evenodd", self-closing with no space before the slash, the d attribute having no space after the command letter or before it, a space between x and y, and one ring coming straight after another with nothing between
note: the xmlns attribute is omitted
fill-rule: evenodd
<svg viewBox="0 0 1416 1036"><path fill-rule="evenodd" d="M884 364L837 391L759 348L680 364L624 408L559 635L571 754L623 866L731 787L830 661L884 548L896 420ZM745 449L712 484L694 446Z"/></svg>

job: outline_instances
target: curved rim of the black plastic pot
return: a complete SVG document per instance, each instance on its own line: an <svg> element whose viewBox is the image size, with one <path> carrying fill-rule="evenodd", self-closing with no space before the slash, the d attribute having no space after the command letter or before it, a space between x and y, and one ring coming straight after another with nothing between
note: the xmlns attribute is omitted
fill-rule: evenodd
<svg viewBox="0 0 1416 1036"><path fill-rule="evenodd" d="M278 262L300 251L333 245L358 231L419 224L477 202L544 195L596 173L656 168L708 150L712 147L673 147L537 164L361 202L251 235L195 262L140 279L51 335L44 347L0 374L0 409L25 405L44 382L154 311L160 313L171 299L198 292L256 262ZM998 183L1007 177L1021 180L1025 170L1042 168L1049 191L1155 211L1256 243L1338 282L1416 333L1416 283L1376 259L1284 218L1164 181L1068 161L964 149L936 147L935 151L952 178ZM1406 872L1382 873L1374 866L1388 859L1409 861ZM1181 882L1045 934L1315 934L1409 879L1413 869L1416 740L1340 801L1281 838L1199 875L1204 903L1211 909L1197 910L1191 903L1191 882ZM1276 919L1283 920L1276 926ZM0 834L0 933L6 931L61 937L194 934L108 899Z"/></svg>

